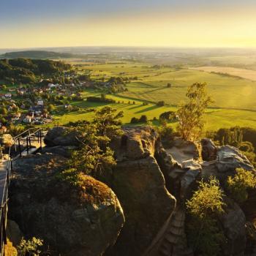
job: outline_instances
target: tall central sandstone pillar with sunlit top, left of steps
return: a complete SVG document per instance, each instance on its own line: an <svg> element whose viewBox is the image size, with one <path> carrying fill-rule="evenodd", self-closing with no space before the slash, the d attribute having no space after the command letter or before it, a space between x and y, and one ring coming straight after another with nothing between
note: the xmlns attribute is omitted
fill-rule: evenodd
<svg viewBox="0 0 256 256"><path fill-rule="evenodd" d="M106 255L143 255L176 206L154 158L159 145L157 132L148 127L125 129L113 143L118 162L110 187L120 200L126 223Z"/></svg>

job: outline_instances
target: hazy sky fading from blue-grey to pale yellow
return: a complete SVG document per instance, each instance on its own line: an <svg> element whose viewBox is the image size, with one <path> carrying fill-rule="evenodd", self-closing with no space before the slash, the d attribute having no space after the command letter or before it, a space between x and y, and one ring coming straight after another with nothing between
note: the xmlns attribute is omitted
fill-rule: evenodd
<svg viewBox="0 0 256 256"><path fill-rule="evenodd" d="M0 48L255 47L256 0L1 0Z"/></svg>

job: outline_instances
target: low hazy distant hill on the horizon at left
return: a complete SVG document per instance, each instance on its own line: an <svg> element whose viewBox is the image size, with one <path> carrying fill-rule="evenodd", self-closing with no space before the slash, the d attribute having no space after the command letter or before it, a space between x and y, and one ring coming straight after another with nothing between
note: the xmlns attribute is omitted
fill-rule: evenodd
<svg viewBox="0 0 256 256"><path fill-rule="evenodd" d="M81 56L78 54L72 53L56 53L53 51L47 50L23 50L15 51L10 53L4 53L0 58L4 59L15 59L15 58L28 58L28 59L70 59L78 58Z"/></svg>

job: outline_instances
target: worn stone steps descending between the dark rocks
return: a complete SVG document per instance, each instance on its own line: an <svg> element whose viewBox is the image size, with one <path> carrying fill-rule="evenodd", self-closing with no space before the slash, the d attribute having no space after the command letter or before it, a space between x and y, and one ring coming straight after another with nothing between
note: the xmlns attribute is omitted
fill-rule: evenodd
<svg viewBox="0 0 256 256"><path fill-rule="evenodd" d="M159 255L162 256L193 256L192 249L187 246L185 234L185 210L177 207L173 212L170 225L165 237L159 246Z"/></svg>

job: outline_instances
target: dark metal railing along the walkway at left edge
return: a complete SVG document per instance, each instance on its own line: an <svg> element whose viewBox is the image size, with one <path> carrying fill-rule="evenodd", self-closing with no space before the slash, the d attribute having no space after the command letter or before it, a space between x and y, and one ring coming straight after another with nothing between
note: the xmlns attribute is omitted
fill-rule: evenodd
<svg viewBox="0 0 256 256"><path fill-rule="evenodd" d="M0 209L0 256L4 256L4 244L7 244L7 212L8 212L8 200L9 200L9 187L12 173L12 161L18 157L22 157L23 151L29 154L29 150L33 148L31 140L36 140L39 144L39 148L42 148L42 128L31 128L15 136L13 144L10 146L7 157L6 173L3 184L3 192L1 197L1 209ZM21 147L21 143L25 142L25 148ZM18 146L18 148L17 148ZM14 147L14 151L12 151ZM18 154L17 154L18 152Z"/></svg>

